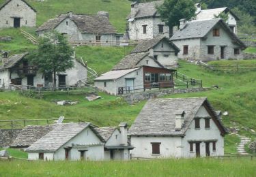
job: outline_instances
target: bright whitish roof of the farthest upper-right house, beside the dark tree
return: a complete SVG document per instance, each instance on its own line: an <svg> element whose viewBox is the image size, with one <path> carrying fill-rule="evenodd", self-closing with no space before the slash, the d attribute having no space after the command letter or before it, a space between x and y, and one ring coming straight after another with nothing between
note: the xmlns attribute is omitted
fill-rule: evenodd
<svg viewBox="0 0 256 177"><path fill-rule="evenodd" d="M232 14L236 20L239 20L238 16L233 14L231 10L229 10L228 7L221 7L221 8L215 8L215 9L210 9L210 10L201 10L199 14L197 14L197 20L209 20L216 18L216 16L220 15L223 12L229 12Z"/></svg>

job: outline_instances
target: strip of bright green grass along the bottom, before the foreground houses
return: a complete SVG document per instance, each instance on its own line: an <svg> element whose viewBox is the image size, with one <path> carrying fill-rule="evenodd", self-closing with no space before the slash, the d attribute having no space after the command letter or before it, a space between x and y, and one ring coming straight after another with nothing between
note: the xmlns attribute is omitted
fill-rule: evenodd
<svg viewBox="0 0 256 177"><path fill-rule="evenodd" d="M256 159L0 161L1 176L255 176Z"/></svg>

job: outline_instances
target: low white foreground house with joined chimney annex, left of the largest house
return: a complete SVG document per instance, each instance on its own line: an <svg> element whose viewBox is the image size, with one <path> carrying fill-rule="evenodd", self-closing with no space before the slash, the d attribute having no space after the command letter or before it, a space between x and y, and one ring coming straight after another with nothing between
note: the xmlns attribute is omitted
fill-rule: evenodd
<svg viewBox="0 0 256 177"><path fill-rule="evenodd" d="M127 123L117 127L96 127L91 123L55 125L25 150L29 160L103 161L129 160Z"/></svg>

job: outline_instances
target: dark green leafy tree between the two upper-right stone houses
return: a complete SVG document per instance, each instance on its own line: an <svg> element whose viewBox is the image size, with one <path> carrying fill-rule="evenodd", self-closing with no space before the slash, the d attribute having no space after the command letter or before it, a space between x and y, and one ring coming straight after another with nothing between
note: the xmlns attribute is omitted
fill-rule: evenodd
<svg viewBox="0 0 256 177"><path fill-rule="evenodd" d="M180 25L180 19L191 20L196 12L193 0L165 0L156 8L162 21L169 26L170 35L172 35L173 27Z"/></svg>

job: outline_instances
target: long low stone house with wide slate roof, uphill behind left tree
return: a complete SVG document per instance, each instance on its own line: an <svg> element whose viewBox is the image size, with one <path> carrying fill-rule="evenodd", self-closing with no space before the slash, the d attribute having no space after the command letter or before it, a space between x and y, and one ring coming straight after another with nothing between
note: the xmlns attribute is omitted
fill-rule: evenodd
<svg viewBox="0 0 256 177"><path fill-rule="evenodd" d="M74 44L91 44L102 46L116 46L123 38L109 22L107 12L97 15L61 14L44 22L37 30L39 36L51 30L66 35L68 41Z"/></svg>

